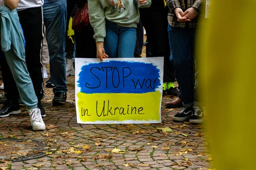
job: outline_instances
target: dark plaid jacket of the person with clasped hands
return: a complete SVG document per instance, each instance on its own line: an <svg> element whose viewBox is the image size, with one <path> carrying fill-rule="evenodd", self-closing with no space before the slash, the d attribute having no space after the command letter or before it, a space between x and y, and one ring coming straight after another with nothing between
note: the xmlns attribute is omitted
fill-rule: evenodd
<svg viewBox="0 0 256 170"><path fill-rule="evenodd" d="M186 1L186 2L185 2ZM167 0L167 5L169 7L168 12L168 21L170 26L172 27L189 27L195 28L198 25L199 17L195 17L193 20L189 22L178 22L177 17L174 13L175 8L181 8L183 12L185 12L188 8L194 7L199 10L199 14L203 13L201 10L202 1L205 0ZM204 7L202 7L204 8Z"/></svg>

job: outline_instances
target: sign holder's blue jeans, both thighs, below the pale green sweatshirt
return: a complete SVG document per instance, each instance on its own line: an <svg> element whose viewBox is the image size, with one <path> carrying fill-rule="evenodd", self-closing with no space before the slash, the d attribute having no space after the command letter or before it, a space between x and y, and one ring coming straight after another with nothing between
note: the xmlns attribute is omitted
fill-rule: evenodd
<svg viewBox="0 0 256 170"><path fill-rule="evenodd" d="M122 27L106 20L105 53L109 58L132 58L136 45L136 28Z"/></svg>

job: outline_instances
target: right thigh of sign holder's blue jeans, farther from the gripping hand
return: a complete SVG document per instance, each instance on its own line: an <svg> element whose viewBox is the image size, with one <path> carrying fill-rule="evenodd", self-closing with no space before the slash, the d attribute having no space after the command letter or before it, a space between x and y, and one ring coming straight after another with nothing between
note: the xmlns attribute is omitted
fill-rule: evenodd
<svg viewBox="0 0 256 170"><path fill-rule="evenodd" d="M118 57L133 58L137 39L136 28L119 26L118 31Z"/></svg>

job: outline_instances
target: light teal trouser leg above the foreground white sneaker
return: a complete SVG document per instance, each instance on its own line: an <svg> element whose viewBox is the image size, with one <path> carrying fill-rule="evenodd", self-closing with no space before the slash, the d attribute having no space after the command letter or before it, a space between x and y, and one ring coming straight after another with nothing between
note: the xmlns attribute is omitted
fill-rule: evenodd
<svg viewBox="0 0 256 170"><path fill-rule="evenodd" d="M21 100L29 110L37 108L38 99L25 63L16 56L13 48L4 52L4 54L15 79Z"/></svg>

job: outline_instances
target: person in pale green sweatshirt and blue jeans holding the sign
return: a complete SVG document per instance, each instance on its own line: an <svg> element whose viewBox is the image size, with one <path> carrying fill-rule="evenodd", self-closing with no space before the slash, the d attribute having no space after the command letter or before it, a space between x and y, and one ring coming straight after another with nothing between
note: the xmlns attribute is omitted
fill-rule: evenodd
<svg viewBox="0 0 256 170"><path fill-rule="evenodd" d="M151 0L88 0L97 58L133 57L139 5L140 8L150 7Z"/></svg>

